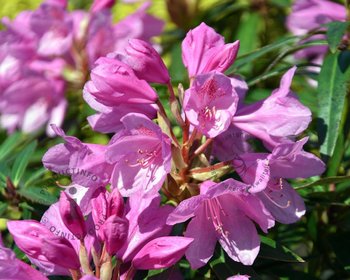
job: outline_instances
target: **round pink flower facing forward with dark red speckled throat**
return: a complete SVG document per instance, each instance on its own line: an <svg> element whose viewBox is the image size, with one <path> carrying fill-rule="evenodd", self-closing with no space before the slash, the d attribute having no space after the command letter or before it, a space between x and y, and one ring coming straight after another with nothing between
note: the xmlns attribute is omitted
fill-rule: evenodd
<svg viewBox="0 0 350 280"><path fill-rule="evenodd" d="M218 72L196 76L184 97L186 117L210 138L228 129L237 104L238 95L230 78Z"/></svg>

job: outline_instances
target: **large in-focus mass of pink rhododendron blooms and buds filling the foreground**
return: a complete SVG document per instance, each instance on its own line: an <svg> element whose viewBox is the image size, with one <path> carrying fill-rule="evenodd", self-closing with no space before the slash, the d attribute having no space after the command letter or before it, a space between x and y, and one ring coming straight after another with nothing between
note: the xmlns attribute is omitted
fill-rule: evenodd
<svg viewBox="0 0 350 280"><path fill-rule="evenodd" d="M130 279L136 270L170 267L183 255L197 269L217 241L234 261L252 265L260 248L255 224L267 233L276 221L303 216L303 200L287 179L318 175L324 164L303 150L307 137L297 140L311 112L290 89L296 68L269 97L246 105L247 84L225 75L238 49L238 41L225 44L204 23L189 31L182 43L189 87L179 85L178 95L145 41L130 40L124 53L97 60L84 87L97 111L88 121L114 136L107 145L82 143L53 126L65 143L49 149L43 163L57 173L86 170L98 180L73 174L41 223L8 224L18 247L45 274ZM168 88L182 135L175 136L169 110L150 83ZM256 152L255 143L265 152ZM233 172L242 182L222 179ZM177 206L160 206L161 196ZM169 236L185 221L184 236ZM63 251L70 257L60 258Z"/></svg>

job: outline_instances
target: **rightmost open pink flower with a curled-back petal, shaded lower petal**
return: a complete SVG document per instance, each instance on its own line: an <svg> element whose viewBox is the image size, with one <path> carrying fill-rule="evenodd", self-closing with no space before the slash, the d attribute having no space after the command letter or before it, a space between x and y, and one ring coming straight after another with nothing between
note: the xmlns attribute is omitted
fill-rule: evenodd
<svg viewBox="0 0 350 280"><path fill-rule="evenodd" d="M294 223L305 213L302 198L282 178L308 178L325 170L320 159L302 150L306 141L279 144L271 154L244 153L232 161L242 180L250 184L249 192L257 193L281 223Z"/></svg>

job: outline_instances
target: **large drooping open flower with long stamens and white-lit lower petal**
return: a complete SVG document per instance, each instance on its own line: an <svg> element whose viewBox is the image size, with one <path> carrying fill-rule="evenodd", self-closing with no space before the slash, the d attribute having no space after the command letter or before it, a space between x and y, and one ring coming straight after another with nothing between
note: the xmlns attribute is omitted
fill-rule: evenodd
<svg viewBox="0 0 350 280"><path fill-rule="evenodd" d="M252 220L267 232L274 219L264 204L247 192L248 187L233 179L218 184L207 181L201 185L200 195L182 201L170 214L167 223L171 225L193 217L185 232L186 237L194 238L186 252L193 269L209 261L217 240L233 260L253 264L260 239Z"/></svg>

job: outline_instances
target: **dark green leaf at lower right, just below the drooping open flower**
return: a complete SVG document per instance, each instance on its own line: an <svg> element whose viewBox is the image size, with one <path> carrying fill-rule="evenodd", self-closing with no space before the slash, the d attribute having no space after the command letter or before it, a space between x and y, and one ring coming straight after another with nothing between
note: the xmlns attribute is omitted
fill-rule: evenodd
<svg viewBox="0 0 350 280"><path fill-rule="evenodd" d="M261 246L259 257L271 259L282 262L305 262L300 256L292 252L287 247L278 244L276 241L266 237L260 236Z"/></svg>

